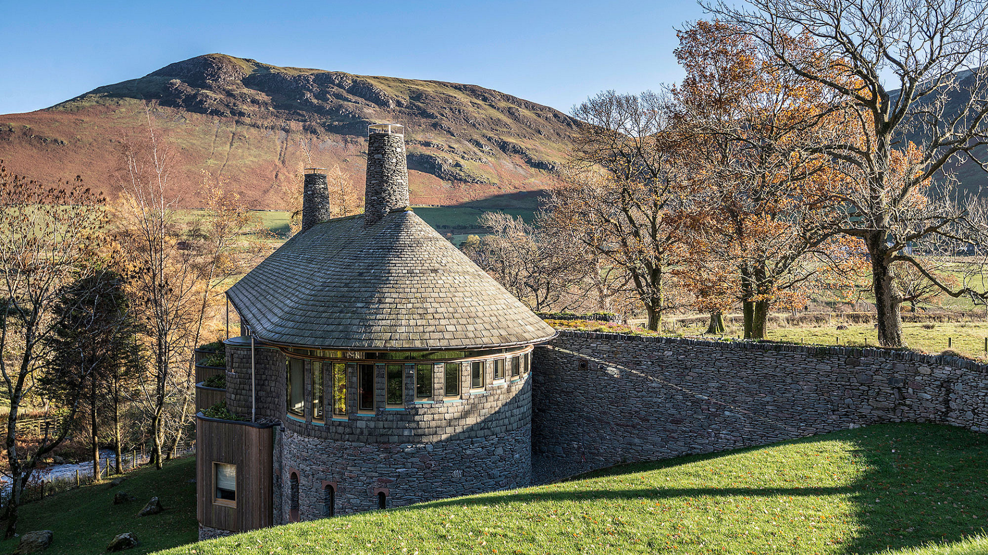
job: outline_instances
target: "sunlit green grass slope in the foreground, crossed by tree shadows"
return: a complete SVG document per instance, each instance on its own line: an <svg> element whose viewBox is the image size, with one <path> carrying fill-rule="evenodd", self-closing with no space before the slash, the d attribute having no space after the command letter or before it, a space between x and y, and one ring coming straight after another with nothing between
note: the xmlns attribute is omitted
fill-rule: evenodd
<svg viewBox="0 0 988 555"><path fill-rule="evenodd" d="M985 435L882 425L165 553L880 553L982 533L986 455Z"/></svg>

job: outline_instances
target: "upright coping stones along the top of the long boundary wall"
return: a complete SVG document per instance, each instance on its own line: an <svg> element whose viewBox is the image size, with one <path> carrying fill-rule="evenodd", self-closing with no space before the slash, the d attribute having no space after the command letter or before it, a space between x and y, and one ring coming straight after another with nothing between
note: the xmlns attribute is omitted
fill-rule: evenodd
<svg viewBox="0 0 988 555"><path fill-rule="evenodd" d="M881 349L876 347L838 347L827 345L797 345L793 343L775 343L768 341L746 340L705 340L662 336L633 336L608 332L584 332L580 330L559 330L561 337L582 339L599 339L606 341L626 341L642 343L670 344L688 347L710 347L720 349L744 349L748 351L768 351L776 353L804 353L807 355L843 356L843 357L874 357L888 360L910 360L927 364L951 366L966 370L988 373L988 364L982 364L970 358L953 357L950 355L926 355L906 350Z"/></svg>

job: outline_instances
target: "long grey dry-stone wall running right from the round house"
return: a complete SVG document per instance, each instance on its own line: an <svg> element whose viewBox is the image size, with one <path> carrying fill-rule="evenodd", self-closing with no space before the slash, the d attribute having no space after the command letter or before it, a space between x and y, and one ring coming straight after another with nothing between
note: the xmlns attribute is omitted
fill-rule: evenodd
<svg viewBox="0 0 988 555"><path fill-rule="evenodd" d="M882 422L988 432L988 368L957 357L563 331L533 376L533 450L586 467Z"/></svg>

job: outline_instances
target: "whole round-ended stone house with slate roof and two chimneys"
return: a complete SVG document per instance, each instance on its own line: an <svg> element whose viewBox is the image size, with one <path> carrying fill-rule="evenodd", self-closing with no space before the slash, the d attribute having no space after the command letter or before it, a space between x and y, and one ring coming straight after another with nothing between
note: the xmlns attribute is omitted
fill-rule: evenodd
<svg viewBox="0 0 988 555"><path fill-rule="evenodd" d="M363 214L327 219L308 171L301 230L227 291L241 420L198 415L203 538L531 480L556 334L408 207L402 131L371 125Z"/></svg>

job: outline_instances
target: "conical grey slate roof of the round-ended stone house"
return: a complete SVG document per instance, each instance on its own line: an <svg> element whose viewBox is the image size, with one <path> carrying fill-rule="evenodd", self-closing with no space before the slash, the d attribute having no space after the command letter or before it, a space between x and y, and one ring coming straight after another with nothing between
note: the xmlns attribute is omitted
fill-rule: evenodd
<svg viewBox="0 0 988 555"><path fill-rule="evenodd" d="M408 208L318 223L227 290L259 339L323 349L477 349L555 331Z"/></svg>

